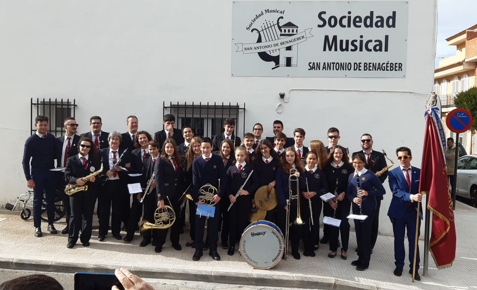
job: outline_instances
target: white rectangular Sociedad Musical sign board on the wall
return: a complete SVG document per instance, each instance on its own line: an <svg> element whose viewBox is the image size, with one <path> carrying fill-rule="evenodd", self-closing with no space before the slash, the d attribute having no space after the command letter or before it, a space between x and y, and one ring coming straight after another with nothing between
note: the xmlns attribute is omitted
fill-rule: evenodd
<svg viewBox="0 0 477 290"><path fill-rule="evenodd" d="M232 76L406 77L407 2L241 2Z"/></svg>

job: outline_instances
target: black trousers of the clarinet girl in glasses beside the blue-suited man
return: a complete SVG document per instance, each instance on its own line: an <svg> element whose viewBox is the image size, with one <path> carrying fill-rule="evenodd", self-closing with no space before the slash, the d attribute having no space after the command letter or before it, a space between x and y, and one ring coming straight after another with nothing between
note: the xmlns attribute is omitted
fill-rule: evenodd
<svg viewBox="0 0 477 290"><path fill-rule="evenodd" d="M360 214L360 208L355 203L352 205L352 208L353 214ZM367 267L371 259L371 233L376 212L374 210L363 209L363 215L367 215L368 218L363 222L354 220L354 228L356 230L357 254L359 260L361 260L360 265Z"/></svg>

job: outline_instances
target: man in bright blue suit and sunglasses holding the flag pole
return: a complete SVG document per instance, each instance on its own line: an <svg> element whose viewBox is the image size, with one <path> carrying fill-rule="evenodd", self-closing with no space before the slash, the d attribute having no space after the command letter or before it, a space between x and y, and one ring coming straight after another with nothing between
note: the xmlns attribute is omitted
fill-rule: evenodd
<svg viewBox="0 0 477 290"><path fill-rule="evenodd" d="M404 250L404 233L408 232L409 242L409 273L412 275L414 261L414 246L416 239L416 215L417 206L420 206L419 217L422 220L422 208L420 201L422 194L419 193L419 178L421 170L411 167L411 149L408 147L399 147L396 149L397 159L400 167L389 172L389 188L392 191L391 204L389 205L389 216L394 232L394 275L401 276L403 273L404 259L406 253ZM421 221L419 221L420 227ZM419 236L419 232L418 232ZM417 247L415 279L421 280L418 274L419 270L419 246Z"/></svg>

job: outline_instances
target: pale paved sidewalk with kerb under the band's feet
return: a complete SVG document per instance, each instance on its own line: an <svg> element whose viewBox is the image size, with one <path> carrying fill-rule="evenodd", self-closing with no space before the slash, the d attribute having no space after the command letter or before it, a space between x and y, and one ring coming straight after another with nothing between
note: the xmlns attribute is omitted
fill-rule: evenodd
<svg viewBox="0 0 477 290"><path fill-rule="evenodd" d="M253 269L245 263L239 253L227 255L220 248L220 261L212 260L204 251L200 261L192 261L194 249L186 247L189 240L188 230L181 235L182 251L175 251L169 240L160 254L154 253L154 247L139 247L142 240L138 234L132 242L118 241L111 234L103 242L97 240L96 226L93 225L91 245L84 247L78 243L72 249L66 247L67 236L50 234L47 224L42 223L43 237L33 236L33 218L22 220L20 212L0 211L0 268L35 270L45 272L112 272L124 267L140 277L210 281L244 285L280 286L293 288L319 289L474 289L477 286L477 209L457 202L456 204L457 252L451 268L438 270L429 254L429 273L422 274L423 239L419 240L421 281L412 282L408 273L408 264L403 275L393 275L394 251L393 237L379 236L369 269L356 271L351 261L357 259L354 252L356 239L350 233L348 259L339 255L334 259L327 257L328 244L320 244L315 251L316 257L301 256L301 260L282 260L270 270ZM64 219L55 224L58 230L65 226ZM321 229L323 232L323 229ZM125 233L122 233L123 237ZM423 237L423 233L421 234ZM407 240L405 240L407 249ZM407 251L407 250L406 250ZM300 248L300 254L303 248ZM407 260L406 256L406 260Z"/></svg>

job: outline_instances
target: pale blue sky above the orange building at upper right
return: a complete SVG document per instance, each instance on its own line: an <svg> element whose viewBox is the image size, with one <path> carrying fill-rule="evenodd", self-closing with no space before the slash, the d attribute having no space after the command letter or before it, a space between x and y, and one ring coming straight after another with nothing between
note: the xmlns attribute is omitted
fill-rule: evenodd
<svg viewBox="0 0 477 290"><path fill-rule="evenodd" d="M477 24L476 0L438 0L438 35L435 52L435 67L440 57L456 54L455 46L448 46L446 38Z"/></svg>

